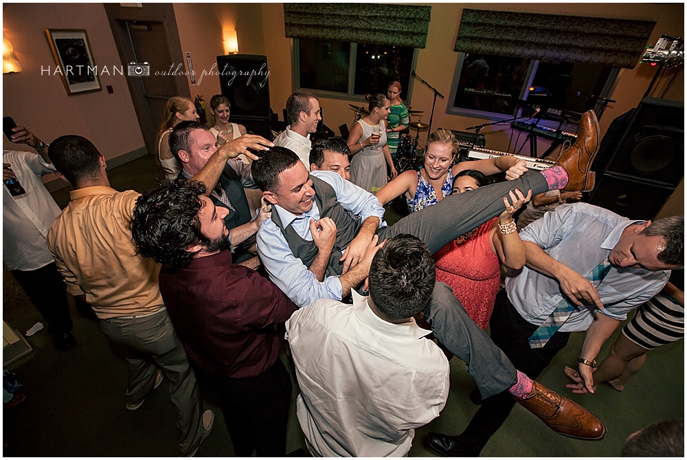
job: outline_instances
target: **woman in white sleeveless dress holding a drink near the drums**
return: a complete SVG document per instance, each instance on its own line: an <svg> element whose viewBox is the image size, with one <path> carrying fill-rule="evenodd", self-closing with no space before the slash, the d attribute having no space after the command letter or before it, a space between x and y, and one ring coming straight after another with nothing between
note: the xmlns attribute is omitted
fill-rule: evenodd
<svg viewBox="0 0 687 460"><path fill-rule="evenodd" d="M383 94L366 94L365 100L370 115L358 120L348 135L348 148L354 155L350 162L350 182L375 193L387 184L387 164L392 178L398 175L387 146L385 120L391 101Z"/></svg>

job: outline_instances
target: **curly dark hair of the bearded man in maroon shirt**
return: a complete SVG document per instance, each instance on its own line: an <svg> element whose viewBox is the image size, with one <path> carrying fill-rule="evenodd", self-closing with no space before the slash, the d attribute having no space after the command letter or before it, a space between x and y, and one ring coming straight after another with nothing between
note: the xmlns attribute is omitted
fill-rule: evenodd
<svg viewBox="0 0 687 460"><path fill-rule="evenodd" d="M137 252L175 269L188 266L195 254L186 249L210 241L198 218L203 193L205 184L180 177L141 195L129 223Z"/></svg>

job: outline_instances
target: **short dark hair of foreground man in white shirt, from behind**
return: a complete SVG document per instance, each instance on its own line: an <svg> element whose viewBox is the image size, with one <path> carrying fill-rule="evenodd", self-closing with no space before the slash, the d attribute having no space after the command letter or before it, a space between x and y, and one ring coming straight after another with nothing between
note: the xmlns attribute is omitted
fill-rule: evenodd
<svg viewBox="0 0 687 460"><path fill-rule="evenodd" d="M372 258L370 297L376 310L390 320L410 318L429 302L435 277L434 261L425 243L399 234Z"/></svg>

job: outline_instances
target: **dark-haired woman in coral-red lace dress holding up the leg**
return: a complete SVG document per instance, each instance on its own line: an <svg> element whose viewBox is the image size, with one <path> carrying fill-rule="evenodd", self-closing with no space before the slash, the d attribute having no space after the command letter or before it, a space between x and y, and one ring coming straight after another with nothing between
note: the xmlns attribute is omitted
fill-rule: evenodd
<svg viewBox="0 0 687 460"><path fill-rule="evenodd" d="M453 181L452 193L468 193L486 185L480 171L461 171ZM513 214L526 204L532 191L524 197L520 190L510 193L506 210L471 232L445 245L436 254L436 281L447 283L465 311L482 329L491 318L496 294L501 284L501 263L519 270L525 265L525 245L517 234Z"/></svg>

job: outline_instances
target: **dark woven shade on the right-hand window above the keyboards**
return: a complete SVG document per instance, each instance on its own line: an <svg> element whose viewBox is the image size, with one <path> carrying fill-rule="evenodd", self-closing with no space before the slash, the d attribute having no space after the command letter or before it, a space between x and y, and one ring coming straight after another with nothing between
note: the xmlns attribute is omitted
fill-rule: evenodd
<svg viewBox="0 0 687 460"><path fill-rule="evenodd" d="M635 67L654 21L464 9L454 51Z"/></svg>

